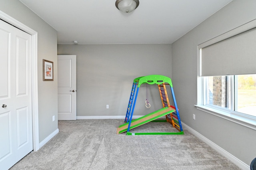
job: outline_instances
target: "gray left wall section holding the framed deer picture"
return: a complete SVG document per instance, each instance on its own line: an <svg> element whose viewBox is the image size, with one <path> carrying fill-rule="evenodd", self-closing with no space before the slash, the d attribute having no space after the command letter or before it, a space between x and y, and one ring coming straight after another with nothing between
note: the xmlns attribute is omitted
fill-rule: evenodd
<svg viewBox="0 0 256 170"><path fill-rule="evenodd" d="M39 142L58 129L57 31L19 0L0 0L0 10L38 32ZM54 81L42 81L42 59L54 62Z"/></svg>

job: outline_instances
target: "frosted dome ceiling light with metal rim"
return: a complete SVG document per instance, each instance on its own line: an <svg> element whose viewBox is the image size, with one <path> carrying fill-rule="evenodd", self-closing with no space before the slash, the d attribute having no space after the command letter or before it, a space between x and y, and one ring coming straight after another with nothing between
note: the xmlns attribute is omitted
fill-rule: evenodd
<svg viewBox="0 0 256 170"><path fill-rule="evenodd" d="M124 13L129 13L139 6L139 0L116 0L116 8Z"/></svg>

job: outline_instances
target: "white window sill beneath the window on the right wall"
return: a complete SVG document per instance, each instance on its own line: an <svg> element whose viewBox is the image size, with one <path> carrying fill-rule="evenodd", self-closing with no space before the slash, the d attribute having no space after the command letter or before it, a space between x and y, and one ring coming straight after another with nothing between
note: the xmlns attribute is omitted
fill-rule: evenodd
<svg viewBox="0 0 256 170"><path fill-rule="evenodd" d="M256 121L253 120L253 119L249 119L249 118L246 118L246 117L235 115L235 114L232 114L230 112L222 111L222 110L215 109L215 108L212 108L212 107L201 106L201 105L194 105L194 106L196 106L197 109L199 109L201 111L204 111L206 113L210 113L212 115L221 117L221 118L226 119L228 121L232 121L232 122L237 123L239 125L248 127L250 129L253 129L253 130L256 130Z"/></svg>

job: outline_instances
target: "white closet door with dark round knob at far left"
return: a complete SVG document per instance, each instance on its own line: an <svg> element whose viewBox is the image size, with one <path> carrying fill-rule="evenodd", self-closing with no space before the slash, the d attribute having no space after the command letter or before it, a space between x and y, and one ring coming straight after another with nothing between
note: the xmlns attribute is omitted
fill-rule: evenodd
<svg viewBox="0 0 256 170"><path fill-rule="evenodd" d="M33 150L31 35L0 20L0 169Z"/></svg>

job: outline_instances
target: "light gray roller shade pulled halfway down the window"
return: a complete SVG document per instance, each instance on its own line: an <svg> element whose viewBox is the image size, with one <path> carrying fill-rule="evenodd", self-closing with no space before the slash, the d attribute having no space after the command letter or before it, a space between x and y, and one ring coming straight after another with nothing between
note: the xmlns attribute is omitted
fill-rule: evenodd
<svg viewBox="0 0 256 170"><path fill-rule="evenodd" d="M202 76L256 74L256 28L202 48Z"/></svg>

